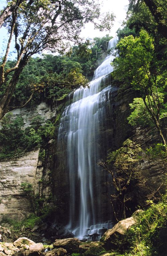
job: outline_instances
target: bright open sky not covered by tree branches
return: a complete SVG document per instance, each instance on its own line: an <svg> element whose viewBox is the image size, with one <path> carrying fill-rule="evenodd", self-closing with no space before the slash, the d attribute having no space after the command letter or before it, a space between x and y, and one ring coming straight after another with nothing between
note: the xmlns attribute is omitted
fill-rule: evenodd
<svg viewBox="0 0 167 256"><path fill-rule="evenodd" d="M98 0L97 0L98 1ZM126 17L126 6L129 4L129 0L99 0L98 2L101 3L101 10L102 12L113 12L116 16L114 26L112 27L111 31L103 31L100 32L99 30L94 29L93 24L86 24L85 28L81 32L81 36L84 38L94 38L94 37L102 37L106 34L115 36L117 29L121 26L123 20ZM6 5L5 0L0 0L0 9ZM0 58L3 55L3 51L5 49L6 40L7 40L7 31L4 28L1 28L0 33ZM11 54L11 59L14 58L14 55Z"/></svg>

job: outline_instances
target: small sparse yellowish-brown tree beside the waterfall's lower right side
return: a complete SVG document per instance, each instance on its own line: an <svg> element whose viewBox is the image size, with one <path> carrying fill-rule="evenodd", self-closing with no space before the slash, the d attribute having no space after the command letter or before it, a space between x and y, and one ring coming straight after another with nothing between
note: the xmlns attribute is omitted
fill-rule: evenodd
<svg viewBox="0 0 167 256"><path fill-rule="evenodd" d="M117 221L126 218L127 204L133 199L132 187L135 185L135 181L141 180L141 174L136 167L141 152L138 144L127 139L120 149L108 154L106 162L98 162L98 165L112 176L111 185L115 191L113 189L111 204Z"/></svg>

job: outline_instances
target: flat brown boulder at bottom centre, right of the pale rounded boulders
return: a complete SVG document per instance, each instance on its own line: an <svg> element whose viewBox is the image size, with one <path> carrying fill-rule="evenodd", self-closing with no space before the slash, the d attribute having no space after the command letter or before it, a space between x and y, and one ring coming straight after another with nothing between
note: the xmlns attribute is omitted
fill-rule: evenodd
<svg viewBox="0 0 167 256"><path fill-rule="evenodd" d="M77 253L79 251L80 241L77 238L56 239L54 248L63 248L67 253Z"/></svg>

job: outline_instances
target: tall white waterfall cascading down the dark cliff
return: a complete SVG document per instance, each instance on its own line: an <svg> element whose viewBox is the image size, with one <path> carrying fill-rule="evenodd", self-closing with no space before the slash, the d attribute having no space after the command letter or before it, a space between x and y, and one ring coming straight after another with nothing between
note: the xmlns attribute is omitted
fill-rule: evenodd
<svg viewBox="0 0 167 256"><path fill-rule="evenodd" d="M109 41L108 50L115 48L117 40ZM103 221L102 181L97 162L102 157L100 129L105 122L106 105L110 103L112 87L107 85L113 59L114 56L107 56L96 69L90 88L80 88L73 93L73 103L65 108L59 126L58 141L66 143L69 169L68 229L80 239L111 228L110 222L99 224Z"/></svg>

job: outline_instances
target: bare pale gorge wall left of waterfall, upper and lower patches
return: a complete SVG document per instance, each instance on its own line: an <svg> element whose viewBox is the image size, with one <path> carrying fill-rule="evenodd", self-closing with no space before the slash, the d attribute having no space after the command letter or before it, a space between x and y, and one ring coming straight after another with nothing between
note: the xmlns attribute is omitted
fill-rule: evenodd
<svg viewBox="0 0 167 256"><path fill-rule="evenodd" d="M11 120L17 115L23 118L24 127L28 127L37 115L45 121L56 115L45 102L41 102L35 108L15 109L11 113ZM3 217L21 220L32 212L31 202L21 189L22 183L31 183L34 194L49 194L48 172L45 170L44 173L45 175L43 163L39 160L39 149L0 162L0 221ZM43 186L43 180L47 186Z"/></svg>

